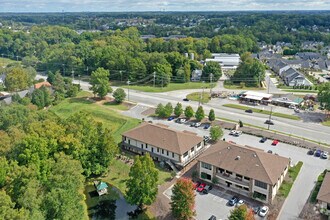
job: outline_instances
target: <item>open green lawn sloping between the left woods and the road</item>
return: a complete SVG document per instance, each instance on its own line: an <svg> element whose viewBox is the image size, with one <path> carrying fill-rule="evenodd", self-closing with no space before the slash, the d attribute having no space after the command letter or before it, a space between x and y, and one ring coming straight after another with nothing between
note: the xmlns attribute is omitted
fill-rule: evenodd
<svg viewBox="0 0 330 220"><path fill-rule="evenodd" d="M102 122L106 127L113 131L115 141L121 141L121 134L139 124L138 119L129 118L111 109L111 106L98 105L92 100L87 100L86 97L91 96L88 92L80 92L77 97L65 99L56 106L50 108L50 111L55 112L62 118L67 118L70 115L85 111L90 113L96 121Z"/></svg>

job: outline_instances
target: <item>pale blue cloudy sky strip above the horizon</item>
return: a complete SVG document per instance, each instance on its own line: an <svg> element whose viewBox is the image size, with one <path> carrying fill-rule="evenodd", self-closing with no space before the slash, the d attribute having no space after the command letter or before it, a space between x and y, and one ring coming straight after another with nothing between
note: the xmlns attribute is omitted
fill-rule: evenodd
<svg viewBox="0 0 330 220"><path fill-rule="evenodd" d="M0 12L330 10L330 0L0 0Z"/></svg>

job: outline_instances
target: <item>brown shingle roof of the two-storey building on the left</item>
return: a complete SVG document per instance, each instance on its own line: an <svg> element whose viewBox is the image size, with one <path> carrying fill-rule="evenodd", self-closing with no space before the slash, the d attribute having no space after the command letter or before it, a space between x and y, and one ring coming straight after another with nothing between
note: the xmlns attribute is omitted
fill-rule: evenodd
<svg viewBox="0 0 330 220"><path fill-rule="evenodd" d="M179 155L203 141L196 134L172 130L159 124L143 123L123 136L159 147Z"/></svg>

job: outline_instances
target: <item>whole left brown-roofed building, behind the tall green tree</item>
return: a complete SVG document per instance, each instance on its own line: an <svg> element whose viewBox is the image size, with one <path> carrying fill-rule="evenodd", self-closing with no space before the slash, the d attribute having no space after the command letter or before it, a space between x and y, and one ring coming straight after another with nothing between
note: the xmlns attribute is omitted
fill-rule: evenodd
<svg viewBox="0 0 330 220"><path fill-rule="evenodd" d="M122 147L183 168L205 150L204 140L195 133L176 131L162 124L143 123L122 134Z"/></svg>

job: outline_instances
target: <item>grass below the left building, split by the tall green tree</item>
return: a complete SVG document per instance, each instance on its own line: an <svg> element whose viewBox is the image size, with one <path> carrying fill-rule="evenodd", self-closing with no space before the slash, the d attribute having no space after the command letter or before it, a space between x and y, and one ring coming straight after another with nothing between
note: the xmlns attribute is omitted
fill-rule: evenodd
<svg viewBox="0 0 330 220"><path fill-rule="evenodd" d="M170 172L164 171L159 167L157 168L159 170L158 185L161 185L171 179ZM110 165L108 175L102 180L116 186L123 194L125 194L129 169L130 166L121 160L113 160L112 164Z"/></svg>

